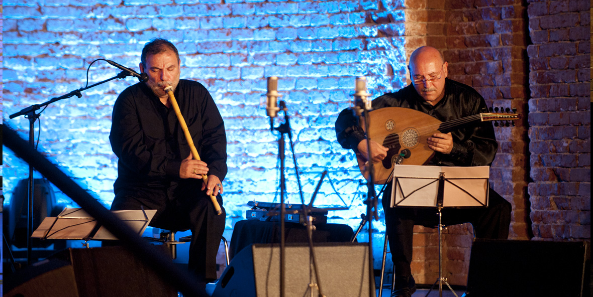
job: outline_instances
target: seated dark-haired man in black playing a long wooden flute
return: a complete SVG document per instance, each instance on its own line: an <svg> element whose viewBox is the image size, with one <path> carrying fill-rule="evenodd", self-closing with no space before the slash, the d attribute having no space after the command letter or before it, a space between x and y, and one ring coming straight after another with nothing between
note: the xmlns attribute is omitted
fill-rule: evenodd
<svg viewBox="0 0 593 297"><path fill-rule="evenodd" d="M154 39L142 49L140 70L148 81L125 89L113 109L111 148L119 158L112 210L157 209L152 226L191 230L189 268L205 284L216 279L216 254L225 214L216 215L209 195L222 205L227 174L227 138L222 117L208 90L180 79L176 47ZM164 91L172 86L201 160L190 146ZM208 175L208 184L202 175Z"/></svg>

